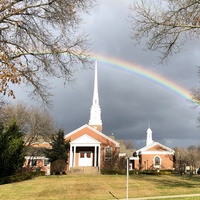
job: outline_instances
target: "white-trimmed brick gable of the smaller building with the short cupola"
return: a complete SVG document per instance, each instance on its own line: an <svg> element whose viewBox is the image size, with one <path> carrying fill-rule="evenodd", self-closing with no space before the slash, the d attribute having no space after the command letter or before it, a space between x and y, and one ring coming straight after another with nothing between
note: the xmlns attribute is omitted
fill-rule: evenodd
<svg viewBox="0 0 200 200"><path fill-rule="evenodd" d="M156 146L159 146L161 147L162 151L159 151L159 150L154 150L153 147L156 147ZM138 149L136 151L137 155L139 154L152 154L152 153L159 153L159 154L162 154L162 153L168 153L168 154L174 154L175 151L159 142L152 142L151 144L141 148L141 149Z"/></svg>

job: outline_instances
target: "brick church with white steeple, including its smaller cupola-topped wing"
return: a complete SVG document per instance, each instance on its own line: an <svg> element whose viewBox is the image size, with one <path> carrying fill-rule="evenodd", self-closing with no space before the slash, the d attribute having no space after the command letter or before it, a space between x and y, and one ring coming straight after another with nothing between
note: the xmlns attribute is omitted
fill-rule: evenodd
<svg viewBox="0 0 200 200"><path fill-rule="evenodd" d="M123 140L116 140L114 136L103 133L97 62L95 63L94 92L89 122L66 134L65 140L70 140L67 173L77 171L80 173L100 173L101 169L110 163L115 166L115 162L121 158L129 158L130 170L173 169L174 150L153 141L150 128L147 129L145 147L138 150L128 150ZM26 159L28 160L29 157L27 156ZM44 156L35 156L34 163L36 166L43 165L43 169L45 170L46 167L49 171L49 163Z"/></svg>

